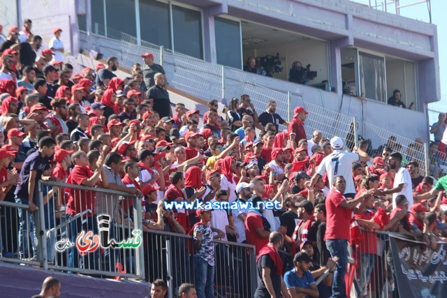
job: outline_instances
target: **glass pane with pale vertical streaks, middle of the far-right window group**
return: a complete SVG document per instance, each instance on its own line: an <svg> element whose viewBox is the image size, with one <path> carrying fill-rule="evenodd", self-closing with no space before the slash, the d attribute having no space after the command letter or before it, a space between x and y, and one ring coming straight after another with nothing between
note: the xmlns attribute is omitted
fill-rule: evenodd
<svg viewBox="0 0 447 298"><path fill-rule="evenodd" d="M360 94L365 98L386 102L385 59L359 52Z"/></svg>

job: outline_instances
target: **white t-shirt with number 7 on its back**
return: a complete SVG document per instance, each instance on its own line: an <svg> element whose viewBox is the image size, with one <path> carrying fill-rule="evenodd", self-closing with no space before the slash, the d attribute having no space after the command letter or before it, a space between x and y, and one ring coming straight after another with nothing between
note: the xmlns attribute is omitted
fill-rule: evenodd
<svg viewBox="0 0 447 298"><path fill-rule="evenodd" d="M356 186L352 177L352 164L360 160L360 156L354 152L344 152L334 150L331 154L323 158L321 164L316 169L316 173L323 176L328 173L330 188L334 177L342 176L346 180L346 191L344 193L356 193Z"/></svg>

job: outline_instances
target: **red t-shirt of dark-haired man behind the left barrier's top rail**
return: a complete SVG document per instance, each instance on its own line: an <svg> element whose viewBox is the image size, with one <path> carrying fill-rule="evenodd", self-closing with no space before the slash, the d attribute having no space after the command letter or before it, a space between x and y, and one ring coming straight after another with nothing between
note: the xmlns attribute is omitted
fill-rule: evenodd
<svg viewBox="0 0 447 298"><path fill-rule="evenodd" d="M84 179L93 176L94 172L89 167L81 167L75 165L68 175L67 184L82 185ZM71 198L68 200L66 214L75 215L87 209L91 209L92 213L87 213L91 217L94 214L95 193L93 191L82 191L80 189L69 189Z"/></svg>

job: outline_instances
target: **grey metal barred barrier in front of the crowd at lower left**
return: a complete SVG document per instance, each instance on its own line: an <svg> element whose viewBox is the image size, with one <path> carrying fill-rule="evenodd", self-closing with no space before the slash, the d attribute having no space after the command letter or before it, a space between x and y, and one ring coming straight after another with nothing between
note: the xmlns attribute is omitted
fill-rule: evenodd
<svg viewBox="0 0 447 298"><path fill-rule="evenodd" d="M94 204L86 205L92 198ZM68 201L75 203L70 204L73 211ZM0 202L0 261L103 278L162 278L173 289L170 297L182 283L195 283L189 250L193 238L147 230L142 225L142 202L134 195L40 181L36 205L31 212L28 204ZM217 295L252 297L254 246L214 242Z"/></svg>

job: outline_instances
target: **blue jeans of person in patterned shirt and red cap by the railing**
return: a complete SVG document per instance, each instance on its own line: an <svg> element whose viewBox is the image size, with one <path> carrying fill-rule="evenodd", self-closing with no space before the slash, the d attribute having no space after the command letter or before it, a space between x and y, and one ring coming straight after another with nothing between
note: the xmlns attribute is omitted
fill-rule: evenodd
<svg viewBox="0 0 447 298"><path fill-rule="evenodd" d="M198 298L214 298L214 266L198 255L194 255L196 291Z"/></svg>

